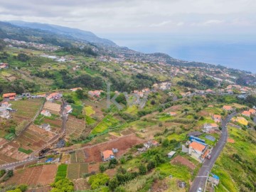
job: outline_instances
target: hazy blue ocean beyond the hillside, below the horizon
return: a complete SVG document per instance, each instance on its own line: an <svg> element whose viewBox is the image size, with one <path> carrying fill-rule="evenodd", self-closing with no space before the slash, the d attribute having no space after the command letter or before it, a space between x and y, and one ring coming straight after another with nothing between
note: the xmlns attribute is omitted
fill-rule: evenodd
<svg viewBox="0 0 256 192"><path fill-rule="evenodd" d="M144 53L167 53L173 58L198 61L256 73L255 36L178 34L101 34L119 46Z"/></svg>

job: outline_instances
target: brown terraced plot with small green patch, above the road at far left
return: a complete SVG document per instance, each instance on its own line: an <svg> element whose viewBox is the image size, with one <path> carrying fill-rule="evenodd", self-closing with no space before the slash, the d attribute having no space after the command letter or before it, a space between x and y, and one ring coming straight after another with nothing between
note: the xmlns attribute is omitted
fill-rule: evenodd
<svg viewBox="0 0 256 192"><path fill-rule="evenodd" d="M0 149L0 156L7 156L7 162L15 160L24 160L28 158L33 151L40 149L48 142L55 134L47 132L44 129L31 125L14 141L4 145Z"/></svg>

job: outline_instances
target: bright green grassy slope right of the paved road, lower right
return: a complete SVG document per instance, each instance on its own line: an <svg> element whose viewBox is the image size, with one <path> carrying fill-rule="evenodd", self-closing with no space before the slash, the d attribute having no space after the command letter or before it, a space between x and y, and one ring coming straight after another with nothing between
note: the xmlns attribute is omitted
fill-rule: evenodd
<svg viewBox="0 0 256 192"><path fill-rule="evenodd" d="M256 179L255 132L228 127L229 137L235 143L227 143L213 167L213 174L220 177L220 184L215 191L255 191L253 183ZM239 156L239 159L237 157Z"/></svg>

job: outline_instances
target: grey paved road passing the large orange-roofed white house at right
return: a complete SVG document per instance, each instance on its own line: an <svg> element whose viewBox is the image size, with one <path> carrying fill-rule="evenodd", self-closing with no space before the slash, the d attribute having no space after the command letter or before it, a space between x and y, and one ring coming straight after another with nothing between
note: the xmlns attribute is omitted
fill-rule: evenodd
<svg viewBox="0 0 256 192"><path fill-rule="evenodd" d="M226 117L223 120L221 124L222 134L220 136L220 139L210 154L211 158L206 159L206 161L203 162L203 165L199 170L197 177L193 181L193 184L189 189L189 192L196 192L200 187L202 189L205 188L208 174L210 174L210 170L213 168L213 165L215 164L216 159L220 155L220 152L223 150L223 147L225 146L225 143L227 142L227 139L228 139L228 130L225 127L227 126L230 119L232 119L232 117L235 116L235 114L237 113L230 114L228 115L228 117Z"/></svg>

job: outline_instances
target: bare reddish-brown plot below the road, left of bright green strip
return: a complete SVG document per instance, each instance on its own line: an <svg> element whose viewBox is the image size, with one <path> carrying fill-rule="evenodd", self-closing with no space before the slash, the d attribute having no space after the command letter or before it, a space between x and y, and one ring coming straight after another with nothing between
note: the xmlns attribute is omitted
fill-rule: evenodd
<svg viewBox="0 0 256 192"><path fill-rule="evenodd" d="M7 182L6 186L15 184L26 184L28 186L46 186L54 181L57 166L55 164L34 166L26 169L18 169L14 171Z"/></svg>

